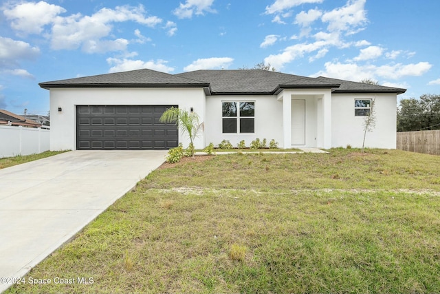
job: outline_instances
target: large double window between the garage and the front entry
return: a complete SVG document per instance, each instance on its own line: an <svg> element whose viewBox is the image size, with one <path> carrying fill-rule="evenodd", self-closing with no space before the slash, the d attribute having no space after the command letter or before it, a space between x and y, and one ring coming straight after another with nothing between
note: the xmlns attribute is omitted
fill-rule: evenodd
<svg viewBox="0 0 440 294"><path fill-rule="evenodd" d="M222 102L223 133L254 133L254 109L255 102L253 101Z"/></svg>

